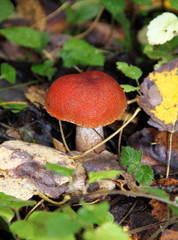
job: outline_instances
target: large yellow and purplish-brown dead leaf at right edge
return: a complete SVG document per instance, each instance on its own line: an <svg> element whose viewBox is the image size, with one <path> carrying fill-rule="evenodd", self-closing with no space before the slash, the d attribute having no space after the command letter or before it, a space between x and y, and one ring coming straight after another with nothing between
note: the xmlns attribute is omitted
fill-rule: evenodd
<svg viewBox="0 0 178 240"><path fill-rule="evenodd" d="M141 84L139 105L161 131L178 131L178 58L150 73Z"/></svg>

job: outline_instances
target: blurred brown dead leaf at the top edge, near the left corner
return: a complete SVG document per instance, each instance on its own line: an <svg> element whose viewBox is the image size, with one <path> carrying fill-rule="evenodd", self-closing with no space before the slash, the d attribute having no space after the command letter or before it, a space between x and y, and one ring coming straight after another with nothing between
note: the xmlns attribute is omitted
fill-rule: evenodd
<svg viewBox="0 0 178 240"><path fill-rule="evenodd" d="M21 18L29 19L35 28L44 31L46 27L46 14L39 0L16 0L17 13Z"/></svg>

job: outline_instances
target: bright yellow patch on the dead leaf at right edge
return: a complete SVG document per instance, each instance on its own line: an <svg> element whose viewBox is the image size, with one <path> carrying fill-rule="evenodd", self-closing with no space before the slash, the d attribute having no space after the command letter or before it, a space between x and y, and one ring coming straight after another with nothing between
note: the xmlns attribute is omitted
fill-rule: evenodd
<svg viewBox="0 0 178 240"><path fill-rule="evenodd" d="M174 124L178 118L178 68L151 73L149 78L155 82L162 97L162 102L151 112L165 124Z"/></svg>

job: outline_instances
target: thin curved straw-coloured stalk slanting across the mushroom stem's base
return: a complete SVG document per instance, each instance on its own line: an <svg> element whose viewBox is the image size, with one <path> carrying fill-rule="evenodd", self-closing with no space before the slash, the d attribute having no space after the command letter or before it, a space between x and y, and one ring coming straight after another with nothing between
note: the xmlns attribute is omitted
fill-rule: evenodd
<svg viewBox="0 0 178 240"><path fill-rule="evenodd" d="M134 119L134 117L141 111L140 108L137 108L134 112L134 114L132 115L132 117L125 123L122 125L122 127L120 127L117 131L115 131L113 134L111 134L109 137L107 137L105 140L103 140L102 142L100 142L99 144L97 144L96 146L88 149L87 151L79 154L79 155L76 155L76 156L73 156L71 157L71 159L73 160L76 160L76 159L79 159L79 158L82 158L84 157L85 155L87 155L88 153L94 151L96 148L100 147L101 145L105 144L107 141L109 141L111 138L113 138L114 136L116 136L120 131L122 131L122 129L124 129L131 121L132 119Z"/></svg>

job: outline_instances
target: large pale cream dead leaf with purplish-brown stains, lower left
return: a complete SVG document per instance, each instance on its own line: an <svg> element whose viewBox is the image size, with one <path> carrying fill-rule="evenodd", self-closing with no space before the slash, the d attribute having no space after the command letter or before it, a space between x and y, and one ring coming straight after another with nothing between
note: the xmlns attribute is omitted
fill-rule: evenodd
<svg viewBox="0 0 178 240"><path fill-rule="evenodd" d="M37 190L49 197L60 196L69 179L46 169L47 162L75 168L65 153L55 149L18 140L4 142L0 146L0 169L5 171L0 191L21 199L29 199Z"/></svg>

